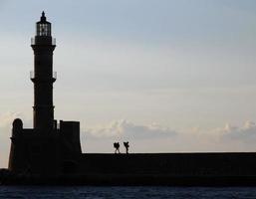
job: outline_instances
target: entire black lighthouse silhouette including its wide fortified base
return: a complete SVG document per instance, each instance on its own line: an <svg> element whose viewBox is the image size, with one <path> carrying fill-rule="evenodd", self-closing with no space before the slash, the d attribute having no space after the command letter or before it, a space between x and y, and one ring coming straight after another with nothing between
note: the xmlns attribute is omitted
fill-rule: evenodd
<svg viewBox="0 0 256 199"><path fill-rule="evenodd" d="M53 52L55 39L51 23L45 13L36 23L36 36L32 38L34 71L30 79L34 83L33 128L24 128L20 118L13 121L9 169L17 173L52 175L76 172L82 154L80 122L54 119ZM58 127L57 127L58 126Z"/></svg>

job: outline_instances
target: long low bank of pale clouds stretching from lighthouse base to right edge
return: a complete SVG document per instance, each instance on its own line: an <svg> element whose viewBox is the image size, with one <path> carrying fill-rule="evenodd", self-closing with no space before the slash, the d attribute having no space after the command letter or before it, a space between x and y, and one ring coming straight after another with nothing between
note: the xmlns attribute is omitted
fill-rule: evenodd
<svg viewBox="0 0 256 199"><path fill-rule="evenodd" d="M222 127L211 129L192 127L186 130L174 130L157 123L137 124L126 119L119 119L105 125L86 127L82 131L85 132L85 136L90 138L161 139L172 137L172 140L190 140L190 143L195 142L202 145L203 142L228 143L233 140L240 142L256 140L256 123L250 120L245 121L242 126L226 123ZM175 138L173 138L173 135L175 135Z"/></svg>

